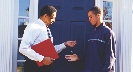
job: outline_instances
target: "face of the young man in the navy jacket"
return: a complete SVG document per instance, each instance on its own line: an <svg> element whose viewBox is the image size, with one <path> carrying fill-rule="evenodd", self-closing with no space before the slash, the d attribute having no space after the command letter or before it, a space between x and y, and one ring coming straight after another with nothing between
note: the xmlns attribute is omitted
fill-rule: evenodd
<svg viewBox="0 0 133 72"><path fill-rule="evenodd" d="M88 18L90 23L94 26L98 22L98 15L95 15L92 11L88 12Z"/></svg>

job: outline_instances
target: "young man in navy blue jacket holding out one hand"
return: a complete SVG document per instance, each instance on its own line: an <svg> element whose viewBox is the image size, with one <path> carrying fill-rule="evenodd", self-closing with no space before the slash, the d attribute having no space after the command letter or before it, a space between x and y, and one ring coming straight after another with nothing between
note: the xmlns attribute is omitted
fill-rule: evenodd
<svg viewBox="0 0 133 72"><path fill-rule="evenodd" d="M84 59L83 72L114 72L116 39L114 32L103 23L102 15L97 6L88 11L94 30L88 36L84 58L78 55L66 57L73 61Z"/></svg>

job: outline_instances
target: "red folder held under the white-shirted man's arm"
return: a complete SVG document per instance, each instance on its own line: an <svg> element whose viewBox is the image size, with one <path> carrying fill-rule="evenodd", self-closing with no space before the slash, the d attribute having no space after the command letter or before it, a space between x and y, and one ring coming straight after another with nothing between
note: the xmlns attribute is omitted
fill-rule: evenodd
<svg viewBox="0 0 133 72"><path fill-rule="evenodd" d="M32 49L44 57L59 58L51 39L44 40L39 44L32 46ZM38 66L43 66L42 62L37 61Z"/></svg>

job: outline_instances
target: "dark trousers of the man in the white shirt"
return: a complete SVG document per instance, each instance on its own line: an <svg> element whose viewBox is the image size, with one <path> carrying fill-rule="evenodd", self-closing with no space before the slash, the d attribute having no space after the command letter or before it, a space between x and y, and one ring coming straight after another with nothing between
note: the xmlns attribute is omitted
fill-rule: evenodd
<svg viewBox="0 0 133 72"><path fill-rule="evenodd" d="M50 66L39 67L35 61L26 59L24 72L50 72Z"/></svg>

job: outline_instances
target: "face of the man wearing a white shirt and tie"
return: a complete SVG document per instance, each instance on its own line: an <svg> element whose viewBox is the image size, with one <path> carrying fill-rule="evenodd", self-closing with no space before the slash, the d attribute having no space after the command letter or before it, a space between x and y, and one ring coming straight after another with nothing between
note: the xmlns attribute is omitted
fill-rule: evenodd
<svg viewBox="0 0 133 72"><path fill-rule="evenodd" d="M52 13L51 16L48 16L47 14L45 14L43 16L43 21L44 23L49 26L50 24L54 23L55 22L55 18L56 18L56 12Z"/></svg>

